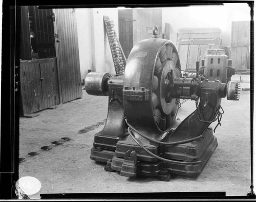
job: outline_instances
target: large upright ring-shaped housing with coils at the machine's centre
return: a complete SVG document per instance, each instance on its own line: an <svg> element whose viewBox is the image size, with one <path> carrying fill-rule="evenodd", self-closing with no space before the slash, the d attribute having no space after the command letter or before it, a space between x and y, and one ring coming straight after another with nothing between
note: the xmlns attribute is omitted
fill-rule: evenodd
<svg viewBox="0 0 256 202"><path fill-rule="evenodd" d="M152 38L136 44L127 59L123 81L124 89L138 95L136 99L124 98L128 122L159 134L172 126L179 101L170 97L166 87L170 75L181 76L179 56L172 42ZM145 94L139 93L142 88ZM140 100L139 95L145 100Z"/></svg>

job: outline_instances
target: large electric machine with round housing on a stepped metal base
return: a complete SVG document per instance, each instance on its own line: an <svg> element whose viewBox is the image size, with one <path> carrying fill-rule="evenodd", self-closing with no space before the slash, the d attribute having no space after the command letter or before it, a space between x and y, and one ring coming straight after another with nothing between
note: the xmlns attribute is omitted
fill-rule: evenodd
<svg viewBox="0 0 256 202"><path fill-rule="evenodd" d="M230 81L234 68L226 55L207 55L201 66L196 62L194 75L182 75L176 47L157 34L154 28L153 38L134 46L124 75L87 75L88 94L109 96L90 158L127 177L197 176L218 146L210 124L220 124L221 99L239 100L240 83ZM195 102L183 121L176 118L180 99Z"/></svg>

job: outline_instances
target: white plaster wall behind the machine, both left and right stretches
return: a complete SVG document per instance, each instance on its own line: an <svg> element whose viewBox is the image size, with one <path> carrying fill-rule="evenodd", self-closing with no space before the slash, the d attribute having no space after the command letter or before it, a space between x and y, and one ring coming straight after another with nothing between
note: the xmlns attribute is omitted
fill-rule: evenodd
<svg viewBox="0 0 256 202"><path fill-rule="evenodd" d="M81 79L86 77L88 70L115 74L103 15L114 20L118 36L117 8L76 9ZM246 3L162 8L163 32L165 23L170 24L174 33L180 28L220 28L222 48L231 45L232 21L242 20L250 20L250 8Z"/></svg>

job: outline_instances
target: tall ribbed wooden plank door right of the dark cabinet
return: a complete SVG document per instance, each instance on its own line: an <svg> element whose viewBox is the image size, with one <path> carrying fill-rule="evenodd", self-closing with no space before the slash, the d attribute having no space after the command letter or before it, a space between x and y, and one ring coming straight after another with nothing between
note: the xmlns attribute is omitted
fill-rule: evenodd
<svg viewBox="0 0 256 202"><path fill-rule="evenodd" d="M65 103L82 97L76 16L75 9L53 12L60 101Z"/></svg>

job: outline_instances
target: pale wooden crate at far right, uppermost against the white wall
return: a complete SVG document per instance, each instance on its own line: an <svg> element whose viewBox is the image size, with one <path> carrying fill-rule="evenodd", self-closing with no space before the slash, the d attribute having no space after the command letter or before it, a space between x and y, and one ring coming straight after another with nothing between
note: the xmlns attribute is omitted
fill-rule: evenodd
<svg viewBox="0 0 256 202"><path fill-rule="evenodd" d="M232 21L231 47L250 46L250 21Z"/></svg>

